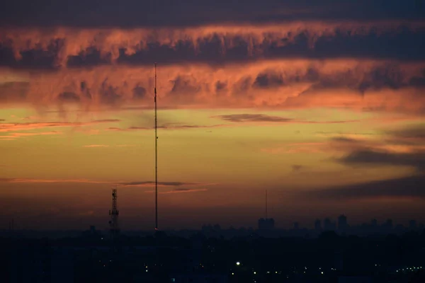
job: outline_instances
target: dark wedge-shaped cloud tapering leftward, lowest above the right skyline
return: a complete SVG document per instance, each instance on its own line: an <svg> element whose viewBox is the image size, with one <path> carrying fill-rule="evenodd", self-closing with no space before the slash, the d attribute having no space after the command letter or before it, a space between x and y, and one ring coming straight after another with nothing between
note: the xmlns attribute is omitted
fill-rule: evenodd
<svg viewBox="0 0 425 283"><path fill-rule="evenodd" d="M392 180L334 187L308 192L311 197L324 199L357 200L371 197L416 197L425 199L425 176L412 176Z"/></svg>

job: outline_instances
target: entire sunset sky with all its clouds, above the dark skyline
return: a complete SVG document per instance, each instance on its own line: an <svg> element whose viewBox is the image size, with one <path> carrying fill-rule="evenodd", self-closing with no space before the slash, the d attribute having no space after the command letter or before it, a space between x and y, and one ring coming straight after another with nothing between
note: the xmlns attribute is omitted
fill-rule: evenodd
<svg viewBox="0 0 425 283"><path fill-rule="evenodd" d="M58 3L56 3L58 2ZM424 1L10 1L0 229L425 221ZM60 3L59 3L60 2Z"/></svg>

